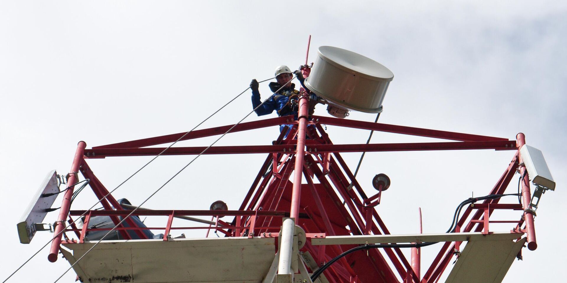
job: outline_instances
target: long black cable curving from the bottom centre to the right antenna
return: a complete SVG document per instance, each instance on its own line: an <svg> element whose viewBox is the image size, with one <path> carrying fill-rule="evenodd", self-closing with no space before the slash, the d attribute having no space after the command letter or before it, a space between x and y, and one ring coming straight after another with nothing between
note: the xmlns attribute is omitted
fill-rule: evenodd
<svg viewBox="0 0 567 283"><path fill-rule="evenodd" d="M518 194L486 195L486 196L480 196L479 198L469 198L467 200L462 201L458 205L458 207L455 209L455 215L453 216L453 221L451 222L451 227L445 233L454 233L454 231L456 229L455 220L458 218L458 215L460 215L461 209L465 205L467 205L469 203L475 203L476 201L479 201L479 200L498 199L498 198L501 198L502 196L509 196L509 195L518 195ZM311 281L315 282L315 280L321 275L321 273L323 273L323 271L325 271L325 269L327 269L329 266L331 266L331 264L335 263L335 261L341 259L343 256L346 256L346 255L348 255L352 252L355 252L355 251L367 250L367 249L370 249L370 248L425 247L425 246L434 245L436 243L439 243L439 242L424 242L424 243L414 243L414 244L375 244L375 245L364 245L364 246L354 247L354 248L351 248L350 250L345 251L342 254L336 256L335 258L330 260L328 263L323 264L319 269L317 269L315 272L313 272L313 275L311 275Z"/></svg>

